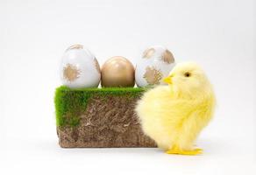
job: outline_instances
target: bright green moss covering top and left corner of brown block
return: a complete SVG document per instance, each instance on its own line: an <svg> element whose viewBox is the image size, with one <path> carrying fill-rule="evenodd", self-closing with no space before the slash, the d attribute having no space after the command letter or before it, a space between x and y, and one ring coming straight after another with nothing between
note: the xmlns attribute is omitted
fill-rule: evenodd
<svg viewBox="0 0 256 175"><path fill-rule="evenodd" d="M87 108L89 98L94 95L101 96L107 101L107 95L125 95L134 98L146 91L146 88L75 88L65 86L56 88L55 91L55 112L57 126L79 125L79 116ZM104 98L105 97L105 98Z"/></svg>

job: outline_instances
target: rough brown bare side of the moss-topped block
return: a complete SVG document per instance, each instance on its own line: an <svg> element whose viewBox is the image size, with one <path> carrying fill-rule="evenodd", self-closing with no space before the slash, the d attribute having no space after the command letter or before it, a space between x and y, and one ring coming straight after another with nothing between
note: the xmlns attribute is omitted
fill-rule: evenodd
<svg viewBox="0 0 256 175"><path fill-rule="evenodd" d="M146 137L134 112L138 96L94 95L81 114L78 126L59 126L63 148L156 147Z"/></svg>

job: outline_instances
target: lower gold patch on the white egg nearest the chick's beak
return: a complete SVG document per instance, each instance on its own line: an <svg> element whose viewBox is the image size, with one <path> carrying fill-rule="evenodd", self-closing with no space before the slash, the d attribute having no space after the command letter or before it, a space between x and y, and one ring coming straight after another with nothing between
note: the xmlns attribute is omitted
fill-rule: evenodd
<svg viewBox="0 0 256 175"><path fill-rule="evenodd" d="M162 79L162 73L153 66L146 66L146 73L144 73L143 78L149 85L158 85Z"/></svg>

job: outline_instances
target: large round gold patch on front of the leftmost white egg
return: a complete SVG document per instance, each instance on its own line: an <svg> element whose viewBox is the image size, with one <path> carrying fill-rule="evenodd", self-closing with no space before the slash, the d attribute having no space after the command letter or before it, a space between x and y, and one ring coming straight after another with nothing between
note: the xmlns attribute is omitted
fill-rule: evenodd
<svg viewBox="0 0 256 175"><path fill-rule="evenodd" d="M79 78L81 71L74 65L68 64L63 68L63 77L67 81L75 81Z"/></svg>

